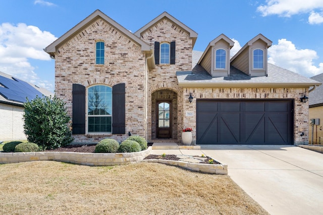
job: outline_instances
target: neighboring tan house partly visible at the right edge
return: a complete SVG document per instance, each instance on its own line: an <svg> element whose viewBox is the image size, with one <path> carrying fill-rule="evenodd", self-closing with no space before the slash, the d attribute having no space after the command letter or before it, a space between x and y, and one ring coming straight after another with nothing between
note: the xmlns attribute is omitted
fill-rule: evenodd
<svg viewBox="0 0 323 215"><path fill-rule="evenodd" d="M323 82L323 73L311 79ZM309 142L312 144L323 144L323 85L314 88L308 97L310 119Z"/></svg>

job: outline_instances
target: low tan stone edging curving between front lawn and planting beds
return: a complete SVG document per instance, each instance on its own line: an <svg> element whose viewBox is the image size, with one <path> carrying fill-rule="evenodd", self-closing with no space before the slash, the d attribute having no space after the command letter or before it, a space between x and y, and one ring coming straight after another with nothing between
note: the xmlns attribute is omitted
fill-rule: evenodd
<svg viewBox="0 0 323 215"><path fill-rule="evenodd" d="M0 153L0 164L21 163L29 161L60 161L86 166L115 166L138 162L155 162L178 166L184 169L212 174L228 174L225 164L195 164L185 161L143 160L151 153L152 147L135 153L74 153L74 152L27 152ZM214 160L214 159L213 159Z"/></svg>

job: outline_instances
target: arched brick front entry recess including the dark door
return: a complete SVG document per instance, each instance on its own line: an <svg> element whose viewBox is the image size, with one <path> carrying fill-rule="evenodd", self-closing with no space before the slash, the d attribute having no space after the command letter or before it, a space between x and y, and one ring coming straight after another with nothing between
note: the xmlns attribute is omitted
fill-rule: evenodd
<svg viewBox="0 0 323 215"><path fill-rule="evenodd" d="M151 137L177 138L177 93L158 90L151 94Z"/></svg>

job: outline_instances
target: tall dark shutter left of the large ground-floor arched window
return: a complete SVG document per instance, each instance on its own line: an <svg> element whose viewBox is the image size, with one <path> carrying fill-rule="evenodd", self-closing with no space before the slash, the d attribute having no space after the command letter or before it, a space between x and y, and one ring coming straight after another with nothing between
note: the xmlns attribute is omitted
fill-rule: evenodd
<svg viewBox="0 0 323 215"><path fill-rule="evenodd" d="M73 84L73 116L72 133L85 134L85 87Z"/></svg>

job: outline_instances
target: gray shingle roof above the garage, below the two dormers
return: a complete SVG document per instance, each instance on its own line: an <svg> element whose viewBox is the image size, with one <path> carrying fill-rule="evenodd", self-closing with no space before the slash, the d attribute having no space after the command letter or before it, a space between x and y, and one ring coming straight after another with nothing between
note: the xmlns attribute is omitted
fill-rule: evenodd
<svg viewBox="0 0 323 215"><path fill-rule="evenodd" d="M179 74L179 73L178 73ZM267 77L249 77L239 69L231 66L230 77L211 77L199 64L196 64L189 75L177 75L179 86L214 86L214 87L248 87L248 86L314 86L319 85L312 79L293 73L277 65L268 63Z"/></svg>

